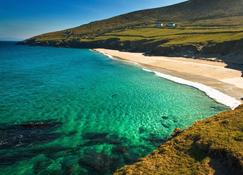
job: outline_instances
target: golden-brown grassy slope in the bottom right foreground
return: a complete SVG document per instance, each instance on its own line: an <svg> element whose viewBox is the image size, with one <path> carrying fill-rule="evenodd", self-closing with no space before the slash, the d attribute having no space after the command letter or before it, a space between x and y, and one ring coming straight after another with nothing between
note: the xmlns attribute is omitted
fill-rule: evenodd
<svg viewBox="0 0 243 175"><path fill-rule="evenodd" d="M115 174L243 174L243 106L197 122Z"/></svg>

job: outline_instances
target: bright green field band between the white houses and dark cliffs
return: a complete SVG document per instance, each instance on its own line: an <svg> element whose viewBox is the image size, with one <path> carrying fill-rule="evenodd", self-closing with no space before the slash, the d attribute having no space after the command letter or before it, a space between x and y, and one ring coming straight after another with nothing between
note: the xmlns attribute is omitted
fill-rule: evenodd
<svg viewBox="0 0 243 175"><path fill-rule="evenodd" d="M189 45L197 43L219 43L243 38L243 27L239 28L137 28L107 33L96 37L94 40L118 38L121 41L153 40L167 41L162 46Z"/></svg>

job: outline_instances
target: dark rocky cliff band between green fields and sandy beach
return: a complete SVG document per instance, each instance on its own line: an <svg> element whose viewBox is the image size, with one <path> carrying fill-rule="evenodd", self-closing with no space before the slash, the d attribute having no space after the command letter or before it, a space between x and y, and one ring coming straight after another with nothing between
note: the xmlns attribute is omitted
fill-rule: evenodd
<svg viewBox="0 0 243 175"><path fill-rule="evenodd" d="M227 41L223 43L191 44L160 46L166 41L150 42L150 40L140 41L120 41L113 38L100 41L80 42L78 40L60 41L36 41L35 38L19 42L18 44L32 46L51 46L66 48L105 48L128 52L143 52L151 56L171 56L188 57L195 59L212 59L223 61L229 68L243 71L243 40Z"/></svg>

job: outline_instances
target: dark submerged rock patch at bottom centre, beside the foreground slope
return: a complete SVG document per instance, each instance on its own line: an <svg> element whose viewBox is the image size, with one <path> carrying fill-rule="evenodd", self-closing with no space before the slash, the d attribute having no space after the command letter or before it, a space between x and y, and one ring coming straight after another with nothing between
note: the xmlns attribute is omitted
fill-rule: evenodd
<svg viewBox="0 0 243 175"><path fill-rule="evenodd" d="M141 132L142 129L140 129ZM145 132L145 131L142 131ZM111 154L87 149L79 159L79 165L88 170L87 174L112 174L124 164L131 164L138 160L141 155L149 153L150 149L144 145L132 146L129 140L109 133L85 133L85 143L81 146L93 146L100 144L112 145ZM144 141L159 146L164 140L150 134Z"/></svg>

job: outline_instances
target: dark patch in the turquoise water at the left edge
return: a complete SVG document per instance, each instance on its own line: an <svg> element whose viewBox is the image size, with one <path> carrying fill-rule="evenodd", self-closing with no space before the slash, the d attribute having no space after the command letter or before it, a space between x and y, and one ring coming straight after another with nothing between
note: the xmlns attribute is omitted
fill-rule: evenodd
<svg viewBox="0 0 243 175"><path fill-rule="evenodd" d="M55 130L60 126L61 122L54 120L0 126L0 150L5 151L0 155L0 165L11 165L38 155L39 152L21 149L59 138L61 135Z"/></svg>

